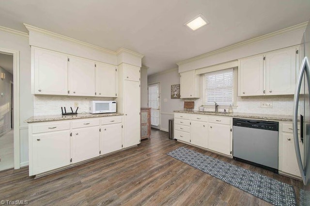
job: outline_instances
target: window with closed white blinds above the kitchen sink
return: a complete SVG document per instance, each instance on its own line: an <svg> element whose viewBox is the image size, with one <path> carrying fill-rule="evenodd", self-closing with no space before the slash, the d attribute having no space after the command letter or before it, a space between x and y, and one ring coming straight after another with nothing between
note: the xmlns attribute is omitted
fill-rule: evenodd
<svg viewBox="0 0 310 206"><path fill-rule="evenodd" d="M233 69L204 74L204 104L233 105Z"/></svg>

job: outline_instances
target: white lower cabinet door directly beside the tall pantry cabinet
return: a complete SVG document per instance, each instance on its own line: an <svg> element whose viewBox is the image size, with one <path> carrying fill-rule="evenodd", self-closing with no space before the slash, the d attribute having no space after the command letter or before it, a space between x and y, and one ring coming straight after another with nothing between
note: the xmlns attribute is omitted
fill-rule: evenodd
<svg viewBox="0 0 310 206"><path fill-rule="evenodd" d="M108 154L120 149L122 149L122 124L118 123L101 126L101 154Z"/></svg>

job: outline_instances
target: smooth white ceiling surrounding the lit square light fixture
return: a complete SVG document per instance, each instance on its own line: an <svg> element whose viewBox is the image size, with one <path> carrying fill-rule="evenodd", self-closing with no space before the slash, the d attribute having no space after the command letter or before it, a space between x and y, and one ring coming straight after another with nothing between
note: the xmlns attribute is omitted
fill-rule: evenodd
<svg viewBox="0 0 310 206"><path fill-rule="evenodd" d="M145 55L148 74L310 18L310 0L0 0L0 26L23 23L110 50ZM195 32L184 23L202 14Z"/></svg>

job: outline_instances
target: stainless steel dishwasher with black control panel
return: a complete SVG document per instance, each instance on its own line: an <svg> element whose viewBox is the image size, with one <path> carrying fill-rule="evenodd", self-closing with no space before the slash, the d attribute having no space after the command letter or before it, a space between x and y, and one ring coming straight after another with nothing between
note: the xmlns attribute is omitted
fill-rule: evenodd
<svg viewBox="0 0 310 206"><path fill-rule="evenodd" d="M279 122L233 118L233 159L278 173Z"/></svg>

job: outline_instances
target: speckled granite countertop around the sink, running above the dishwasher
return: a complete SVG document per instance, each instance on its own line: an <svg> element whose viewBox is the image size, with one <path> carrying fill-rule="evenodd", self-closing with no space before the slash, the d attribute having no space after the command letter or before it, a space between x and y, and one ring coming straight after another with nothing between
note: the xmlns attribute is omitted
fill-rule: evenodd
<svg viewBox="0 0 310 206"><path fill-rule="evenodd" d="M266 119L266 120L278 120L278 121L293 121L293 115L269 115L269 114L255 114L255 113L223 113L223 112L201 112L198 110L176 110L173 112L200 114L200 115L217 115L233 118L254 118L254 119Z"/></svg>

